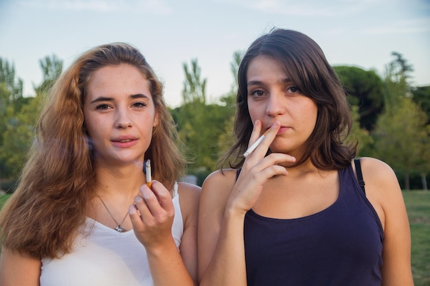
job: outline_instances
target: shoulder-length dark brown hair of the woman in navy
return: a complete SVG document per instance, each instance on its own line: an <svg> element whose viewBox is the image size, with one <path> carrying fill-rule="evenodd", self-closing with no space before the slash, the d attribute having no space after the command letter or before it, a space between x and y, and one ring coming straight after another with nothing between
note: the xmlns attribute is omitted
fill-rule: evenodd
<svg viewBox="0 0 430 286"><path fill-rule="evenodd" d="M273 29L260 36L245 53L238 69L234 121L236 143L221 158L220 165L229 161L230 167L239 168L245 160L241 154L247 149L253 130L247 103L247 70L249 62L260 55L271 56L280 62L299 91L317 104L317 123L306 141L302 158L297 158L295 166L308 159L319 169L348 166L356 154L357 144L345 142L352 127L352 117L339 78L314 40L289 29Z"/></svg>

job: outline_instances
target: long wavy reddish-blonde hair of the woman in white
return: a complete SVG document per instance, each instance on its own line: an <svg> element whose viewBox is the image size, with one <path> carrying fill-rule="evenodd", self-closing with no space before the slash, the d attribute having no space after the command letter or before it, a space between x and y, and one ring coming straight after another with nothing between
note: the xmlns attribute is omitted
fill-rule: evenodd
<svg viewBox="0 0 430 286"><path fill-rule="evenodd" d="M45 99L19 185L0 212L1 237L8 249L38 259L71 251L95 195L93 156L82 111L84 91L94 71L123 63L139 69L150 82L159 114L145 154L154 178L171 189L183 175L186 162L176 145L179 139L163 99L163 85L142 53L126 43L90 49L60 75Z"/></svg>

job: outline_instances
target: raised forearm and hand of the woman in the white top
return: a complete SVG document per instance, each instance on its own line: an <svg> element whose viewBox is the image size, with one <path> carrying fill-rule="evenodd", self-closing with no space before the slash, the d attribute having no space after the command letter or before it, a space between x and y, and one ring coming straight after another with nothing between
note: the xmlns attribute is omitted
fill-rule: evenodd
<svg viewBox="0 0 430 286"><path fill-rule="evenodd" d="M144 184L140 190L129 213L133 231L146 248L154 285L196 285L172 237L174 206L170 192L155 180L151 189Z"/></svg>

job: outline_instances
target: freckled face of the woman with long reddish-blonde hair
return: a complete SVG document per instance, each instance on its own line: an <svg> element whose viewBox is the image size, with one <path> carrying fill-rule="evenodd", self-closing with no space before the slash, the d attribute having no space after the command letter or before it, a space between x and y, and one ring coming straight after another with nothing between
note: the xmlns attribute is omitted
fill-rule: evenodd
<svg viewBox="0 0 430 286"><path fill-rule="evenodd" d="M98 165L142 164L158 124L148 80L130 64L98 69L84 95L84 121Z"/></svg>

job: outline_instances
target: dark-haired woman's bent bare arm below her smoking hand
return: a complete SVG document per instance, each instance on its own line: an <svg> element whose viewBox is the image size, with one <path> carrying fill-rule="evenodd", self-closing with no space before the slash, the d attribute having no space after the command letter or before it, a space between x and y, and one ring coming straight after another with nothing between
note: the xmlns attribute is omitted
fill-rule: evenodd
<svg viewBox="0 0 430 286"><path fill-rule="evenodd" d="M236 171L216 171L205 180L199 210L200 285L247 285L245 213L225 212Z"/></svg>

